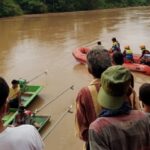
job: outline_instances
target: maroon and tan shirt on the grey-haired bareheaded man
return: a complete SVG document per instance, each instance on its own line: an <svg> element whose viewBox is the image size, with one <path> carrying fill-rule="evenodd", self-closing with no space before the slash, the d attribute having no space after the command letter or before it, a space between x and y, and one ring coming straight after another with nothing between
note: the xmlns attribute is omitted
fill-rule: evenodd
<svg viewBox="0 0 150 150"><path fill-rule="evenodd" d="M76 98L76 129L80 139L88 141L88 129L100 110L97 102L97 95L100 88L100 80L93 80L88 87L82 88Z"/></svg>

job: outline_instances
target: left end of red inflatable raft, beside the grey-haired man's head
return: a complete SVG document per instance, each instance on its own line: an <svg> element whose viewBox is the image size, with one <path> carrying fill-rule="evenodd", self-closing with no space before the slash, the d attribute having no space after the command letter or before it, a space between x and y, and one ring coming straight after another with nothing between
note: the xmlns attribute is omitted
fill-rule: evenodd
<svg viewBox="0 0 150 150"><path fill-rule="evenodd" d="M90 48L87 48L87 47L80 47L80 48L77 48L75 49L73 52L72 52L72 55L74 56L74 58L80 62L81 64L86 64L86 55L87 53L90 51Z"/></svg>

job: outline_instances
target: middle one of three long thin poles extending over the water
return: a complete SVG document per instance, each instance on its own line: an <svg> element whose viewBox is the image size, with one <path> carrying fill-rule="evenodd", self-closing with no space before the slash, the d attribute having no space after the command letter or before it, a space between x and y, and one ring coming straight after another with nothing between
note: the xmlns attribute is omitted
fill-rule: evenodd
<svg viewBox="0 0 150 150"><path fill-rule="evenodd" d="M35 113L40 112L42 109L44 109L46 106L48 106L49 104L51 104L52 102L54 102L55 100L57 100L61 95L63 95L64 93L66 93L68 90L74 90L74 85L66 88L64 91L62 91L60 94L58 94L55 98L53 98L52 100L50 100L47 104L43 105L41 108L35 110Z"/></svg>

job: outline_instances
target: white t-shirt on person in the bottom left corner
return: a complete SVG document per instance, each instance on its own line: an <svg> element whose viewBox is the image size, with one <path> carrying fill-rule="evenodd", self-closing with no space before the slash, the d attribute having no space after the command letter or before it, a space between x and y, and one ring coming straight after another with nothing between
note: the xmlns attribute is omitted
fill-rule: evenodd
<svg viewBox="0 0 150 150"><path fill-rule="evenodd" d="M31 125L7 127L0 133L0 150L43 150L43 142Z"/></svg>

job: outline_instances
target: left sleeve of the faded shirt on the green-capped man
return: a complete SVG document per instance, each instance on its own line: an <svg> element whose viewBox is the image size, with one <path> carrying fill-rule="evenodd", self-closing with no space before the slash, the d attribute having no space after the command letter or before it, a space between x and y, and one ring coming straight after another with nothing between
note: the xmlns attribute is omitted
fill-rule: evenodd
<svg viewBox="0 0 150 150"><path fill-rule="evenodd" d="M93 129L89 130L90 150L109 150L103 134L98 134Z"/></svg>

